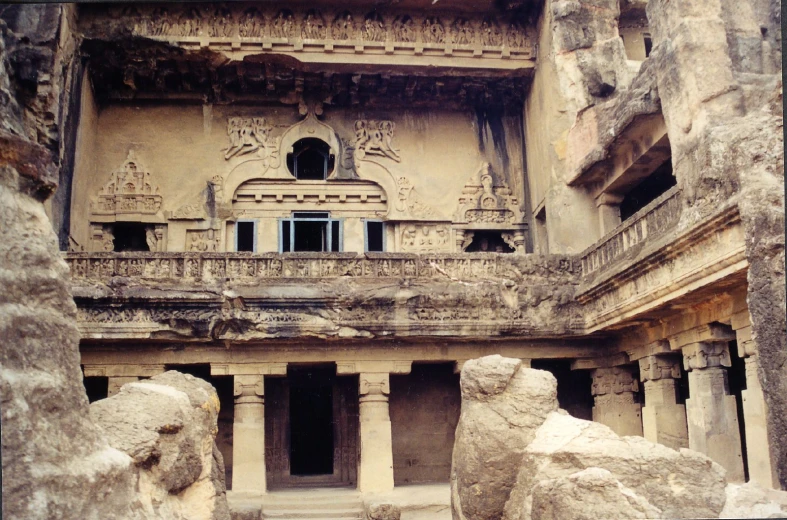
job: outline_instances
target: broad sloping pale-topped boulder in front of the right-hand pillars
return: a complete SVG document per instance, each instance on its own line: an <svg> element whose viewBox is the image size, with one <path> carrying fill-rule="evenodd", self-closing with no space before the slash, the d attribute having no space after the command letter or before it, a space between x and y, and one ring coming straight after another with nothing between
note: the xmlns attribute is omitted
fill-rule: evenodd
<svg viewBox="0 0 787 520"><path fill-rule="evenodd" d="M536 510L544 507L544 499L536 500L544 496L543 491L537 492L542 481L562 482L590 468L607 470L666 518L718 518L726 500L725 471L708 457L687 449L675 451L642 437L618 437L603 424L563 412L550 414L525 449L516 486L505 506L505 520L552 518ZM579 479L573 486L580 481L584 482ZM622 497L617 502L625 506ZM625 506L617 515L597 518L636 518L647 508L644 502L634 502L638 505ZM569 517L576 515L565 516Z"/></svg>

